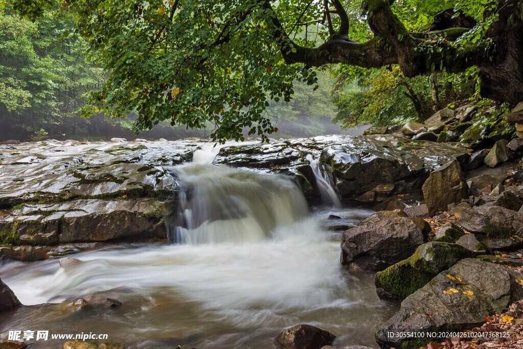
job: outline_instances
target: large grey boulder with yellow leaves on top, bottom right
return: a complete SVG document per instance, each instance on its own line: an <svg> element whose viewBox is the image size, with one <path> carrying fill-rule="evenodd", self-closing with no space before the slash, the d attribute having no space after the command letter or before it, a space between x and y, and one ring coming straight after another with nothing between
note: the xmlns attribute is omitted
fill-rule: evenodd
<svg viewBox="0 0 523 349"><path fill-rule="evenodd" d="M470 329L523 298L523 286L516 279L523 275L473 258L461 260L405 298L401 309L376 332L376 340L382 348L417 348L422 344L402 343L405 338L388 332Z"/></svg>

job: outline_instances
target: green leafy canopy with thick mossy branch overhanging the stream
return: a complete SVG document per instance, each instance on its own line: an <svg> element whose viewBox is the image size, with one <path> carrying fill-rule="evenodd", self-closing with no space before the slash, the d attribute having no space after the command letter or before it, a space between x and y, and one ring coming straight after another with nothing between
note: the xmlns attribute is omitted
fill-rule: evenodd
<svg viewBox="0 0 523 349"><path fill-rule="evenodd" d="M51 0L16 2L39 16ZM392 6L389 6L393 3ZM107 69L84 115L137 112L137 130L160 121L215 126L214 139L241 139L242 128L274 132L266 108L288 102L293 81L316 88L313 67L365 69L399 64L406 76L463 71L489 56L487 29L496 0L70 0L90 59ZM35 6L40 4L40 6ZM518 3L519 4L519 3ZM427 30L441 10L475 16L469 31ZM519 14L521 16L521 14ZM519 18L517 18L519 20ZM372 28L372 30L371 30ZM455 28L453 28L455 29ZM319 46L319 42L323 42ZM314 86L314 87L313 87Z"/></svg>

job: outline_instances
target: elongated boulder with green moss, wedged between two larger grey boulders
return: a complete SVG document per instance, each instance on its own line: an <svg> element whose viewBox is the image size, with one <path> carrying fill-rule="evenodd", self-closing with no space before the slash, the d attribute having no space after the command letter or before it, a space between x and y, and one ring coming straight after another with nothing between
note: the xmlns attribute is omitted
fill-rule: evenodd
<svg viewBox="0 0 523 349"><path fill-rule="evenodd" d="M382 299L403 300L425 286L439 272L474 253L446 242L420 245L414 254L376 274L376 288Z"/></svg>

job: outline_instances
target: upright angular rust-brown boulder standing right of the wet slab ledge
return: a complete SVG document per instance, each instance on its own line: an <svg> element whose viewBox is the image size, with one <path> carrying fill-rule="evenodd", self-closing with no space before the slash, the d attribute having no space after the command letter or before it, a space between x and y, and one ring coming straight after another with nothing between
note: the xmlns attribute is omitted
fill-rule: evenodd
<svg viewBox="0 0 523 349"><path fill-rule="evenodd" d="M457 160L440 166L431 172L423 184L423 197L429 212L446 210L449 204L469 196L469 186Z"/></svg>

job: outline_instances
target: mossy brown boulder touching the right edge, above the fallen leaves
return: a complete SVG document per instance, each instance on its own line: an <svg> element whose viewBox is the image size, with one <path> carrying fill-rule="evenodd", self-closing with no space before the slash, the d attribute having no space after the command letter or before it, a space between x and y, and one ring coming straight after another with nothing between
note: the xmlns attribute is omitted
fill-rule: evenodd
<svg viewBox="0 0 523 349"><path fill-rule="evenodd" d="M523 247L523 213L499 206L463 206L458 224L476 233L476 238L490 251Z"/></svg>

